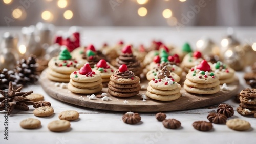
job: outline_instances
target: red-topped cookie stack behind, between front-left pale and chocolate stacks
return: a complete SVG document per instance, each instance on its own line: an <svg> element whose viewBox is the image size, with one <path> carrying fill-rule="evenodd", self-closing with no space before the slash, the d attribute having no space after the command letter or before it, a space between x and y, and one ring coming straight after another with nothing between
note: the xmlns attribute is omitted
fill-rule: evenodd
<svg viewBox="0 0 256 144"><path fill-rule="evenodd" d="M100 73L102 78L102 83L109 83L110 77L116 71L116 68L106 62L104 59L101 59L96 67L93 68L95 72Z"/></svg>

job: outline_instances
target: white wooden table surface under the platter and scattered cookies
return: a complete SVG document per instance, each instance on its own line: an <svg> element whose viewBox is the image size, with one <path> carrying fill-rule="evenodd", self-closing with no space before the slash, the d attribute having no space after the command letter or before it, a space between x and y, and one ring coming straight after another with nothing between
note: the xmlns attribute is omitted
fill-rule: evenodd
<svg viewBox="0 0 256 144"><path fill-rule="evenodd" d="M67 30L67 27L58 27ZM256 38L253 28L236 28L236 34L241 41L252 41ZM0 33L5 31L19 32L20 27L0 27ZM185 28L177 31L176 28L167 27L84 27L82 43L93 43L96 47L103 42L116 43L122 39L124 42L138 45L149 44L152 39L162 40L167 44L181 46L188 41L194 47L202 36L208 36L220 42L225 36L226 28L199 27ZM248 87L243 80L244 72L237 72L240 80L240 89ZM128 125L122 122L125 112L113 112L90 109L61 102L48 96L42 90L39 83L25 87L23 91L33 90L45 96L45 100L51 102L54 115L49 118L38 118L33 114L33 107L29 111L14 110L8 116L8 140L4 139L5 112L0 112L0 143L255 143L256 119L243 117L234 112L231 118L241 118L251 123L252 128L248 131L239 132L229 129L226 125L214 125L209 132L197 131L192 123L198 120L207 120L209 112L215 112L218 105L184 111L165 112L167 118L174 118L181 122L181 128L170 130L163 127L161 122L155 119L155 112L140 113L141 123ZM239 104L233 99L223 103L230 104L236 109ZM49 122L58 119L58 114L64 110L77 110L79 120L71 122L71 129L66 132L56 133L48 130ZM19 122L26 118L37 118L41 121L41 128L26 130L19 126Z"/></svg>

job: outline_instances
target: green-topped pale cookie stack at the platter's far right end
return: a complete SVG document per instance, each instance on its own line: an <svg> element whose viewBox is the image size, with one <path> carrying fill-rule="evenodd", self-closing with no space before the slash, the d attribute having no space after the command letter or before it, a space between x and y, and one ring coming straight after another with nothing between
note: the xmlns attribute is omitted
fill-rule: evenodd
<svg viewBox="0 0 256 144"><path fill-rule="evenodd" d="M234 81L234 70L218 61L212 65L212 70L219 75L220 84L229 84Z"/></svg>

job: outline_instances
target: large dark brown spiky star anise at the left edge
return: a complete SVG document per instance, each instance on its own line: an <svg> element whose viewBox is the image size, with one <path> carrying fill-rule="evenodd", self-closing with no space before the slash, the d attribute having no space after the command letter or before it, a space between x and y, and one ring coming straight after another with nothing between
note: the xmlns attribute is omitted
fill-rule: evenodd
<svg viewBox="0 0 256 144"><path fill-rule="evenodd" d="M7 110L8 115L12 113L12 110L20 109L20 110L29 110L28 105L34 104L34 102L26 99L27 95L33 93L33 91L29 92L20 92L22 90L22 85L14 89L12 82L9 83L9 89L7 96L3 90L0 90L0 111Z"/></svg>

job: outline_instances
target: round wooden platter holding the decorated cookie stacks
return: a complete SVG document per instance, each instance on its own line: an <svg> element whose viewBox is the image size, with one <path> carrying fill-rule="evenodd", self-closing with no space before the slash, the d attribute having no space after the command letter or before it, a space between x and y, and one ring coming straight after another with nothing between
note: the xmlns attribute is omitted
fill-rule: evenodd
<svg viewBox="0 0 256 144"><path fill-rule="evenodd" d="M101 94L103 92L108 93L108 96L111 97L112 100L102 101L100 98L97 98L96 100L89 100L86 94L76 94L70 92L67 88L63 89L56 87L56 82L50 81L47 78L46 70L40 75L40 83L48 95L63 102L94 109L133 112L160 112L201 108L224 102L236 95L239 91L239 80L236 78L236 81L228 84L228 91L221 90L216 94L191 94L181 88L180 92L182 96L174 101L157 101L147 98L147 100L143 102L140 95L143 93L145 94L146 90L140 91L140 93L134 97L113 97L108 93L108 88L103 88L102 91L97 94ZM179 83L182 84L182 82ZM145 85L146 88L148 86L148 81L142 80L141 85Z"/></svg>

